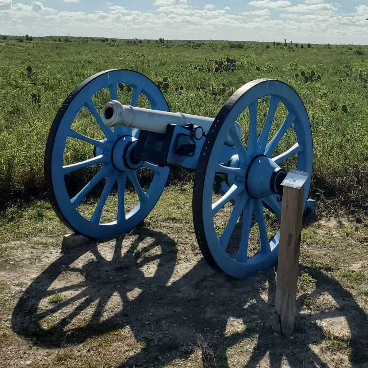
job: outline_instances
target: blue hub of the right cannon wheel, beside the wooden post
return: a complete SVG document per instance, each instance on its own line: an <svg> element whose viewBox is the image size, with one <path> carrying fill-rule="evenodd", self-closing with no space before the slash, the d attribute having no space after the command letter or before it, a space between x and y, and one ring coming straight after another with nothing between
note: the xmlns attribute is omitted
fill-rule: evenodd
<svg viewBox="0 0 368 368"><path fill-rule="evenodd" d="M245 189L252 198L266 198L281 194L285 171L265 155L257 155L250 162L245 176Z"/></svg>

